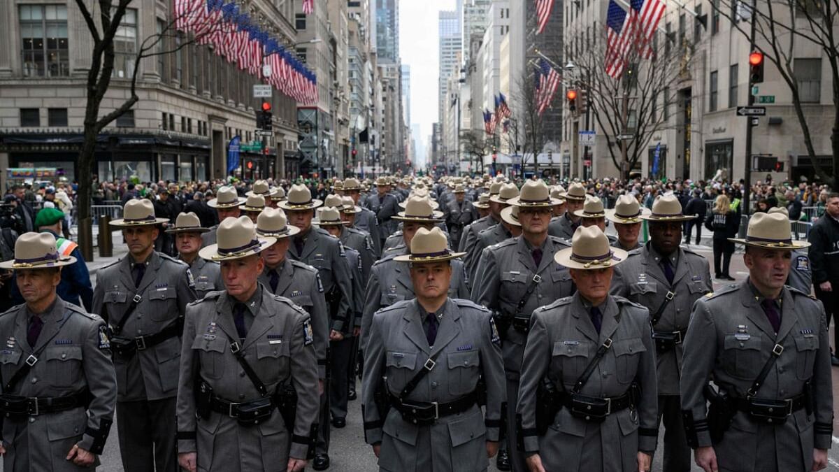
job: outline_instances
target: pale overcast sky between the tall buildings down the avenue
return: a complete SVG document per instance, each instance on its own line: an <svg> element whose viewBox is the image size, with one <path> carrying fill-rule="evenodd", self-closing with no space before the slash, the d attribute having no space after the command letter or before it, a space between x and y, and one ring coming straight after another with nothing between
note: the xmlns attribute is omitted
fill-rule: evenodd
<svg viewBox="0 0 839 472"><path fill-rule="evenodd" d="M420 124L423 144L437 121L438 13L454 9L455 0L399 0L399 55L411 67L410 119ZM425 160L425 155L419 157Z"/></svg>

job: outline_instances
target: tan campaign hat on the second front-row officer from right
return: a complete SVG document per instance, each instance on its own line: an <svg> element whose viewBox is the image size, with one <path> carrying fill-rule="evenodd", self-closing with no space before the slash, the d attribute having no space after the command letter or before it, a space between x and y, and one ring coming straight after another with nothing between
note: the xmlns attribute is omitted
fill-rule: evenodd
<svg viewBox="0 0 839 472"><path fill-rule="evenodd" d="M571 247L557 251L554 260L569 269L605 269L626 260L627 252L609 246L609 239L597 226L577 227Z"/></svg>

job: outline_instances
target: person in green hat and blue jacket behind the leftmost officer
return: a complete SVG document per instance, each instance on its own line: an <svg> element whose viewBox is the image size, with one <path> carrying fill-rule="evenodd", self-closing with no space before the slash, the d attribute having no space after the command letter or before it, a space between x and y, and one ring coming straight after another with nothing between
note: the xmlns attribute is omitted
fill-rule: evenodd
<svg viewBox="0 0 839 472"><path fill-rule="evenodd" d="M56 293L65 302L73 303L79 307L90 310L93 306L93 286L91 275L87 271L85 259L81 256L79 245L59 236L62 233L64 213L58 208L44 208L35 217L35 229L40 233L51 233L55 236L55 247L58 248L60 256L72 256L76 258L76 264L68 265L61 270L61 281ZM23 296L18 291L18 285L12 282L12 299L17 305L23 303Z"/></svg>

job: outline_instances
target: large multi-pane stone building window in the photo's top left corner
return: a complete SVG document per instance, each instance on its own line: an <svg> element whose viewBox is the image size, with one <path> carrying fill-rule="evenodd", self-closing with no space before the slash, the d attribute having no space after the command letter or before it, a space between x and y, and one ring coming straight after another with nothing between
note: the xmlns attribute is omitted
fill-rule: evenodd
<svg viewBox="0 0 839 472"><path fill-rule="evenodd" d="M20 38L24 77L70 76L67 7L21 5Z"/></svg>

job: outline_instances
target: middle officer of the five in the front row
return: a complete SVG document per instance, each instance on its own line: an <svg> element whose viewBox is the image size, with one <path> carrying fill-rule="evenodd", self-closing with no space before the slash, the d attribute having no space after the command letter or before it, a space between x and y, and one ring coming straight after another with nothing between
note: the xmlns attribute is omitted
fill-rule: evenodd
<svg viewBox="0 0 839 472"><path fill-rule="evenodd" d="M448 296L449 261L460 255L447 248L439 228L420 228L410 254L397 258L409 263L416 298L373 317L362 412L380 470L486 470L487 456L498 451L505 397L500 341L485 308Z"/></svg>

